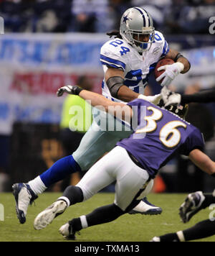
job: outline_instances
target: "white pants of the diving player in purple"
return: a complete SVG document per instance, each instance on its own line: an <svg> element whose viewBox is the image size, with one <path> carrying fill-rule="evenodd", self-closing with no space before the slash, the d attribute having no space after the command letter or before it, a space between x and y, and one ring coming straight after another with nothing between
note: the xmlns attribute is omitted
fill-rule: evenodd
<svg viewBox="0 0 215 256"><path fill-rule="evenodd" d="M125 211L140 190L145 188L138 200L151 191L153 181L148 183L148 178L148 172L135 165L123 147L115 147L95 163L76 186L82 189L85 201L116 180L114 202Z"/></svg>

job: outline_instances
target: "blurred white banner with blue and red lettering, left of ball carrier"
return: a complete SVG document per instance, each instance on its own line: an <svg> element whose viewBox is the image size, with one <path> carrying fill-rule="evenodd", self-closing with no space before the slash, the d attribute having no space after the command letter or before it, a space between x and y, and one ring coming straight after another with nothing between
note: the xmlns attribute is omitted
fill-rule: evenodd
<svg viewBox="0 0 215 256"><path fill-rule="evenodd" d="M105 35L8 34L0 36L0 134L14 122L59 123L59 87L89 76L100 92L100 47Z"/></svg>

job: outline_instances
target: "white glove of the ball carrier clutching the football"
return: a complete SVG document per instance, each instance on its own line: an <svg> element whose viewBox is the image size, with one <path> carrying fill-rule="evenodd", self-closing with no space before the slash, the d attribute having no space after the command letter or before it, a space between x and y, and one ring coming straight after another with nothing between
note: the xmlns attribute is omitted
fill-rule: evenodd
<svg viewBox="0 0 215 256"><path fill-rule="evenodd" d="M171 65L162 65L158 71L165 70L161 76L156 79L157 82L163 79L161 86L169 86L176 76L183 71L184 65L182 63L173 63Z"/></svg>

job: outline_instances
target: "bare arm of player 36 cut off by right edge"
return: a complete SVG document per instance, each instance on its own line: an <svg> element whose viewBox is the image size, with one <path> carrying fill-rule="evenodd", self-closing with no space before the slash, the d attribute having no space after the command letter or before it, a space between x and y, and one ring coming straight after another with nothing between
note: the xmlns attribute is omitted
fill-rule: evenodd
<svg viewBox="0 0 215 256"><path fill-rule="evenodd" d="M192 150L189 154L190 160L197 165L201 170L209 175L215 176L215 162L211 160L204 152L201 150Z"/></svg>

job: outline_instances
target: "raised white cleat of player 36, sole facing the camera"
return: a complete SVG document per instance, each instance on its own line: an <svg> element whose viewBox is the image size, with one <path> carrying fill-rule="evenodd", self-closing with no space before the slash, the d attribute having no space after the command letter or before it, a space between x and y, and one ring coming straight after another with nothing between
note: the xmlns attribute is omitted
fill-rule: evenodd
<svg viewBox="0 0 215 256"><path fill-rule="evenodd" d="M34 229L40 230L52 223L53 219L62 214L67 209L67 203L63 200L54 202L51 206L44 209L34 219Z"/></svg>

